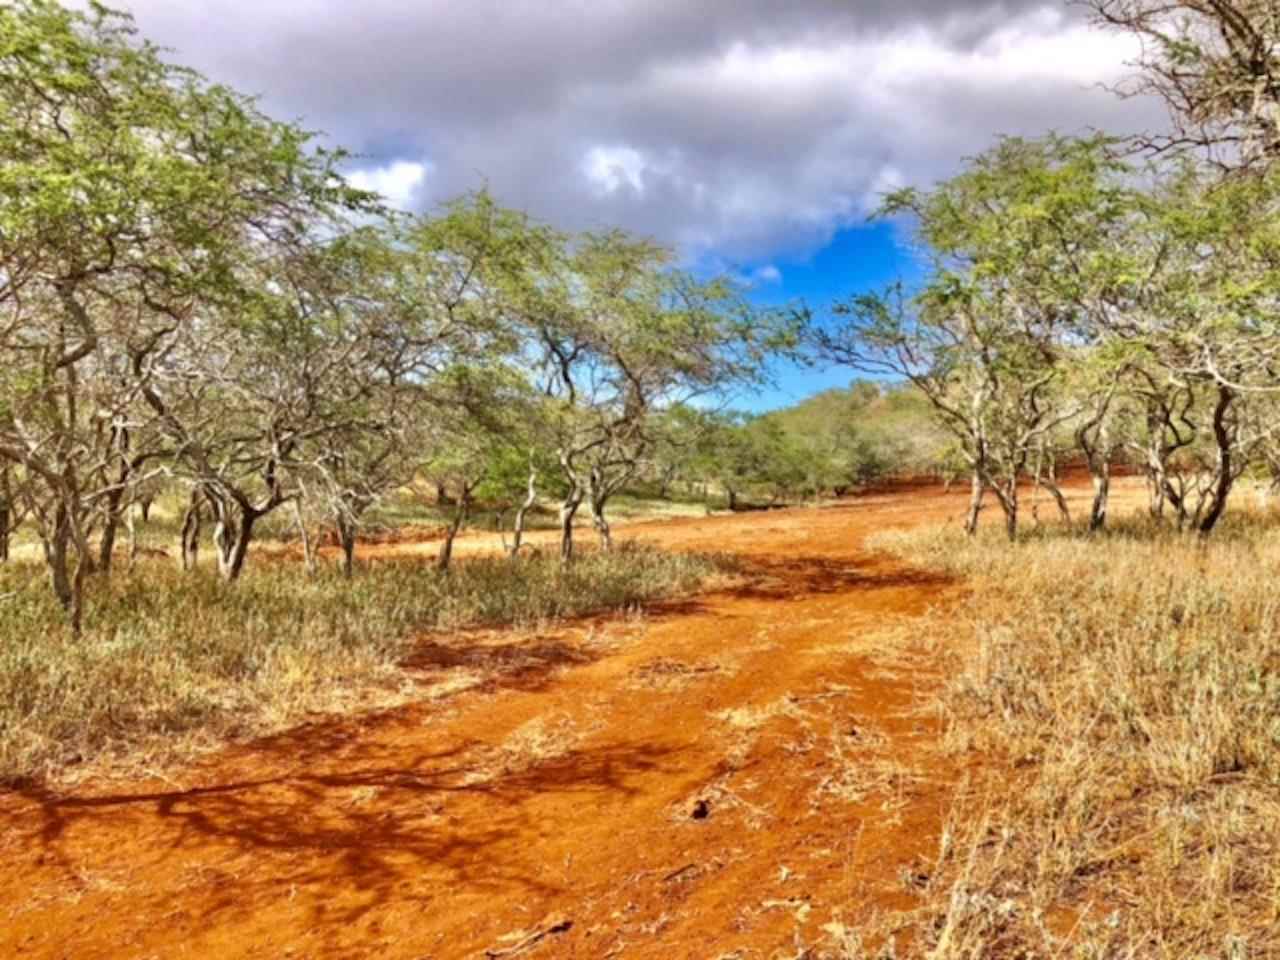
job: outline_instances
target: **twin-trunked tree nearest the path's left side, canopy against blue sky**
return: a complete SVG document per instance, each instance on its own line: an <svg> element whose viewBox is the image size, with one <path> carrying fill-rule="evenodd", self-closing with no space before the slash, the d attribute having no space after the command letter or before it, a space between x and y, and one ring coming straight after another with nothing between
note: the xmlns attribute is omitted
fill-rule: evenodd
<svg viewBox="0 0 1280 960"><path fill-rule="evenodd" d="M669 269L669 252L620 232L575 244L545 234L521 310L540 355L550 445L567 488L561 557L573 553L584 502L608 548L609 499L653 449L654 417L756 376L771 325L726 280Z"/></svg>

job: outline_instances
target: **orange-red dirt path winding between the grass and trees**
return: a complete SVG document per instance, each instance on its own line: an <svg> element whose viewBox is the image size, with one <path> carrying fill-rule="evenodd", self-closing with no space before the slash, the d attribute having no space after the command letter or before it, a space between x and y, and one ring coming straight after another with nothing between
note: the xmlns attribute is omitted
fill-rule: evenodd
<svg viewBox="0 0 1280 960"><path fill-rule="evenodd" d="M961 500L631 527L755 575L434 637L415 666L461 692L174 781L0 795L0 956L795 957L906 905L952 782L910 625L955 588L863 540Z"/></svg>

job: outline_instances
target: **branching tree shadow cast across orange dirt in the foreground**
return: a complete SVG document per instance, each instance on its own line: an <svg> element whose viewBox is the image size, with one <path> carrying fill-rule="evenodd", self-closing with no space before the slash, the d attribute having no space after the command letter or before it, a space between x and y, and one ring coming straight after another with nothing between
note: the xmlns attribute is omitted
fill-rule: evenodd
<svg viewBox="0 0 1280 960"><path fill-rule="evenodd" d="M571 750L513 771L495 771L492 754L476 744L424 753L408 763L398 744L385 749L394 762L384 764L376 746L369 755L367 739L360 756L352 755L349 731L338 724L255 744L256 765L279 768L283 758L273 753L300 742L311 755L328 746L329 769L101 796L19 790L29 801L20 832L38 845L44 863L60 863L73 878L78 858L63 849L69 832L146 824L163 833L163 842L134 845L131 870L159 872L170 858L216 850L218 867L191 878L192 886L206 888L201 897L187 897L200 904L200 915L188 918L195 925L303 897L317 924L340 931L334 924L357 922L393 899L420 896L425 906L449 887L554 895L562 882L545 872L522 872L517 858L502 852L538 832L540 819L529 809L536 797L573 794L584 810L598 810L635 795L630 781L641 774L678 773L669 749L630 744ZM133 909L163 913L163 893L151 906L138 902L142 896L131 891Z"/></svg>

